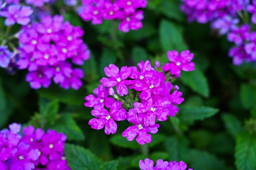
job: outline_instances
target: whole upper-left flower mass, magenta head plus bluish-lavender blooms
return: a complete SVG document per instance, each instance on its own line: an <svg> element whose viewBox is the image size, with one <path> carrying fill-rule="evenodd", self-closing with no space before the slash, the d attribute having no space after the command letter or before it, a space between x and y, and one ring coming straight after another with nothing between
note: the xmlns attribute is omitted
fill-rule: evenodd
<svg viewBox="0 0 256 170"><path fill-rule="evenodd" d="M71 62L83 65L83 61L90 58L90 51L81 39L83 30L79 26L64 22L61 15L48 15L43 6L53 2L0 0L0 17L6 18L7 26L5 33L0 30L3 35L0 41L8 45L0 46L0 66L10 72L16 67L28 69L26 80L31 88L47 88L53 78L62 88L71 86L77 90L82 86L83 71L72 68ZM11 25L16 23L22 25L20 31L9 35ZM11 42L15 38L18 38L18 47Z"/></svg>

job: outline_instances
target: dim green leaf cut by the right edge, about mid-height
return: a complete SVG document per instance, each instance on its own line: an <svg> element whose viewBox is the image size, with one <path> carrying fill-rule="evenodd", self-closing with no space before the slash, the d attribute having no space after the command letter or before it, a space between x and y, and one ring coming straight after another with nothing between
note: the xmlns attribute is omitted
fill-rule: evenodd
<svg viewBox="0 0 256 170"><path fill-rule="evenodd" d="M256 104L256 86L242 84L240 89L241 102L245 108L251 108Z"/></svg>

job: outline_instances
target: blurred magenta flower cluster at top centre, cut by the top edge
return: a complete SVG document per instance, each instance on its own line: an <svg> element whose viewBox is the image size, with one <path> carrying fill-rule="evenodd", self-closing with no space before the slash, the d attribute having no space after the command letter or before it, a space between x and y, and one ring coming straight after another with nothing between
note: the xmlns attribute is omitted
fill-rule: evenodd
<svg viewBox="0 0 256 170"><path fill-rule="evenodd" d="M146 8L147 0L82 0L83 6L79 16L85 20L92 20L92 24L101 24L102 20L121 20L119 30L128 32L142 27L143 11L138 8Z"/></svg>

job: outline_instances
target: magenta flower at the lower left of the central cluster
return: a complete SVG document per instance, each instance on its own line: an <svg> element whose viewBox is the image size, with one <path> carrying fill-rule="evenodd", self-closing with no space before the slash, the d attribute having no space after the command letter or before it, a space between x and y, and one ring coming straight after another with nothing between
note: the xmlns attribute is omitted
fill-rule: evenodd
<svg viewBox="0 0 256 170"><path fill-rule="evenodd" d="M126 119L126 110L122 107L122 102L116 101L112 104L110 111L102 108L102 106L96 105L92 110L92 115L98 117L99 119L93 118L90 119L89 125L93 129L102 129L105 126L105 133L109 135L110 133L114 134L117 132L116 121L121 121Z"/></svg>

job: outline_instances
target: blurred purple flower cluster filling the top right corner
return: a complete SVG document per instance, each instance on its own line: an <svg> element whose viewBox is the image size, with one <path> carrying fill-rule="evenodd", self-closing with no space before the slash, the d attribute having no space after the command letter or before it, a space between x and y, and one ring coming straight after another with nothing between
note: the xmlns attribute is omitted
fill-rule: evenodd
<svg viewBox="0 0 256 170"><path fill-rule="evenodd" d="M256 0L182 0L189 21L211 22L211 28L235 45L229 50L233 63L256 62ZM250 17L249 13L252 13ZM250 17L250 18L249 18ZM251 21L251 22L250 22Z"/></svg>

